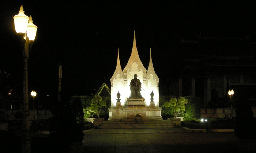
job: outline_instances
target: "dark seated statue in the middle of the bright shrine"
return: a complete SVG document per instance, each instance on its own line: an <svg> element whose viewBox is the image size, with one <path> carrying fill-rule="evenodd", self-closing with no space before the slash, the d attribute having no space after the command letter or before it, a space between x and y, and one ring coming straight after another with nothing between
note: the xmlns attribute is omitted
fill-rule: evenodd
<svg viewBox="0 0 256 153"><path fill-rule="evenodd" d="M131 95L129 98L142 98L142 96L140 95L140 91L141 91L140 88L141 88L140 80L137 79L137 74L134 74L134 79L132 79L130 83Z"/></svg>

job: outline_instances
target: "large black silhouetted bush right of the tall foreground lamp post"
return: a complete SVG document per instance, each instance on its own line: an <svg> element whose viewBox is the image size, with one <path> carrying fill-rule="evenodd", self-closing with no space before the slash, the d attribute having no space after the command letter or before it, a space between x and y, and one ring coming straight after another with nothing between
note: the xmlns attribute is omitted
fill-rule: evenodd
<svg viewBox="0 0 256 153"><path fill-rule="evenodd" d="M53 111L54 117L51 118L49 152L69 152L69 146L72 142L83 141L84 113L81 101L75 98L70 103L69 98L63 99L57 103ZM54 145L52 145L54 144Z"/></svg>

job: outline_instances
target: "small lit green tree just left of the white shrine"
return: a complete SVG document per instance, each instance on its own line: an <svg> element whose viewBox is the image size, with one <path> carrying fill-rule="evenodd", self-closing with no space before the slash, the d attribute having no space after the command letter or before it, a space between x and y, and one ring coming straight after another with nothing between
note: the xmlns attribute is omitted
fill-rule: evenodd
<svg viewBox="0 0 256 153"><path fill-rule="evenodd" d="M99 113L101 112L102 107L106 106L106 101L109 97L102 98L100 95L94 95L91 99L90 111L94 112L99 118Z"/></svg>

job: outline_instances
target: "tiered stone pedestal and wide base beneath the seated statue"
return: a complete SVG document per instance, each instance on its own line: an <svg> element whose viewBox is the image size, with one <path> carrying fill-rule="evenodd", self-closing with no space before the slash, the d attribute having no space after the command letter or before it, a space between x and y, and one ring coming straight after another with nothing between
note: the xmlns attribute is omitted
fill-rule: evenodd
<svg viewBox="0 0 256 153"><path fill-rule="evenodd" d="M140 117L141 121L162 120L162 108L148 107L144 98L127 98L126 107L109 108L109 120L111 121L135 121Z"/></svg>

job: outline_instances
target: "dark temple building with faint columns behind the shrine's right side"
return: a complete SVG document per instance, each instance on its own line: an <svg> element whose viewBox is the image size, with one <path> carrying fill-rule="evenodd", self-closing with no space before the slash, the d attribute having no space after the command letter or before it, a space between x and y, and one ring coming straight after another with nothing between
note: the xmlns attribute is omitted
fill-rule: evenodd
<svg viewBox="0 0 256 153"><path fill-rule="evenodd" d="M256 62L249 38L202 37L182 40L183 60L170 78L169 94L200 97L203 107L227 107L234 100L256 100Z"/></svg>

